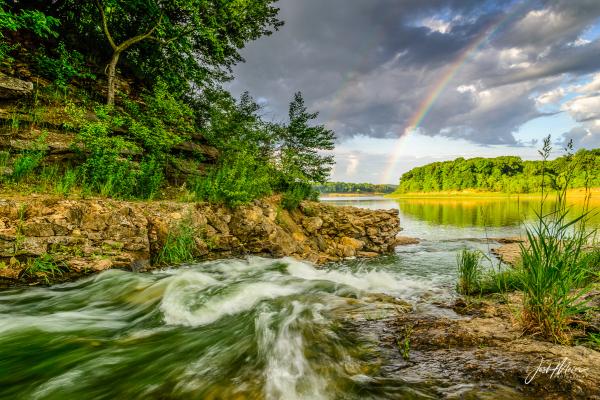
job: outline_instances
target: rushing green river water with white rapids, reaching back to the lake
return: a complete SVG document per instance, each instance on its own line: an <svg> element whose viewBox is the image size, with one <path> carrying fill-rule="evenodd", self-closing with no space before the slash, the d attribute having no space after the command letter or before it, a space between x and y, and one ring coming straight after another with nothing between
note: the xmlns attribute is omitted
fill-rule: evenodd
<svg viewBox="0 0 600 400"><path fill-rule="evenodd" d="M380 293L458 318L436 306L456 295L456 252L522 234L531 204L332 204L399 208L403 234L423 240L324 268L251 257L2 291L0 399L510 398L387 368L368 326L397 312Z"/></svg>

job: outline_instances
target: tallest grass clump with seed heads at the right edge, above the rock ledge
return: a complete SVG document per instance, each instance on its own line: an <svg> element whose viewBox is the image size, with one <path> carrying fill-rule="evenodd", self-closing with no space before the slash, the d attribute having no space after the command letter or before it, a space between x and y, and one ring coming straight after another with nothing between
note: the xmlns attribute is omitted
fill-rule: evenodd
<svg viewBox="0 0 600 400"><path fill-rule="evenodd" d="M550 154L550 138L544 141L542 157ZM567 147L567 150L570 148ZM521 244L523 273L523 323L529 333L540 334L557 342L568 342L568 326L574 317L586 310L583 299L589 290L594 271L586 246L596 230L588 229L587 209L570 217L566 190L570 176L560 182L554 209L544 213L542 197L537 220L526 228L527 242ZM589 204L589 203L588 203Z"/></svg>

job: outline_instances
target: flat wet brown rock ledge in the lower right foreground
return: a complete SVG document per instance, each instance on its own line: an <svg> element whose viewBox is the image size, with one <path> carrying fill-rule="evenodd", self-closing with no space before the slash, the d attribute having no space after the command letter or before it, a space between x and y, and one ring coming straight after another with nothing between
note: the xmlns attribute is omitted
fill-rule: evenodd
<svg viewBox="0 0 600 400"><path fill-rule="evenodd" d="M437 315L403 310L364 324L378 332L384 376L436 382L440 398L488 398L491 390L489 398L600 399L600 352L523 335L509 305L459 300L443 307Z"/></svg>

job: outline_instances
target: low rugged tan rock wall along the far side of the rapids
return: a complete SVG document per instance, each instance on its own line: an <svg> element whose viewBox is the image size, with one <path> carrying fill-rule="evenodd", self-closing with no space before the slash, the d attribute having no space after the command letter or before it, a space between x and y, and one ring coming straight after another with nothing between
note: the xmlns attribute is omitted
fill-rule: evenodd
<svg viewBox="0 0 600 400"><path fill-rule="evenodd" d="M393 250L400 222L397 210L316 202L288 212L277 197L234 210L206 203L0 199L0 284L67 280L109 268L148 270L182 228L192 232L199 260L256 254L325 263ZM36 275L36 260L60 271Z"/></svg>

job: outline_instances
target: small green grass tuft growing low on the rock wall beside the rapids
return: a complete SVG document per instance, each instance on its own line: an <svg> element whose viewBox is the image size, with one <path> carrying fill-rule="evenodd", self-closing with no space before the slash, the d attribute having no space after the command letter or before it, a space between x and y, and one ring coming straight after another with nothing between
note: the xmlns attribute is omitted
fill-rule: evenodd
<svg viewBox="0 0 600 400"><path fill-rule="evenodd" d="M196 236L192 222L184 219L169 232L154 264L176 265L194 261L197 252Z"/></svg>

